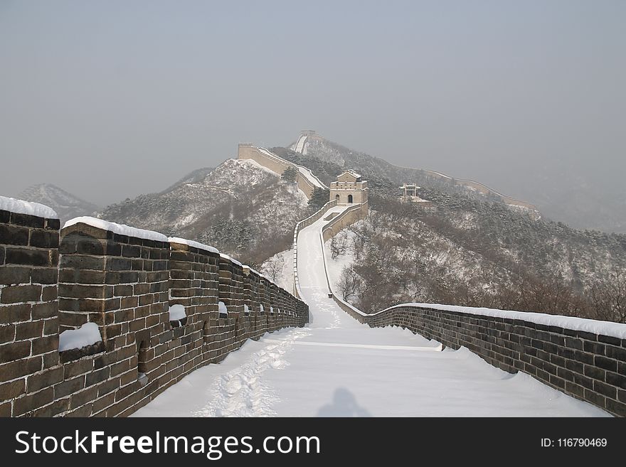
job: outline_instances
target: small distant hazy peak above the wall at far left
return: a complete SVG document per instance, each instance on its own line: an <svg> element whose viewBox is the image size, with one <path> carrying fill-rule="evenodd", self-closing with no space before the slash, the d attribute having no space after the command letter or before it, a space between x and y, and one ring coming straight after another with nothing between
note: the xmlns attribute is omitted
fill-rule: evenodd
<svg viewBox="0 0 626 467"><path fill-rule="evenodd" d="M97 205L81 200L51 183L28 187L18 194L18 198L50 206L58 214L61 225L66 220L78 218L81 215L95 215L100 210Z"/></svg>

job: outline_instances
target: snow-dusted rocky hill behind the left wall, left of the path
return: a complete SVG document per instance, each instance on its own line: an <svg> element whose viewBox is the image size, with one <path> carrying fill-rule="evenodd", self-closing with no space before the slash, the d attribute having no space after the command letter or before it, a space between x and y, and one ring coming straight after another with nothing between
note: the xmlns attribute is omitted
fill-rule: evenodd
<svg viewBox="0 0 626 467"><path fill-rule="evenodd" d="M228 159L160 193L110 205L100 216L213 245L254 265L289 248L295 224L311 210L295 183L255 161Z"/></svg>

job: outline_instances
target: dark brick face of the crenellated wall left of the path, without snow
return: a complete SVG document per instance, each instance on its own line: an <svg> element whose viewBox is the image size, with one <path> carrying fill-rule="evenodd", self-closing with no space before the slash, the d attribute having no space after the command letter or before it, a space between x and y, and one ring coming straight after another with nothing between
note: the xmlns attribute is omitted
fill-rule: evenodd
<svg viewBox="0 0 626 467"><path fill-rule="evenodd" d="M0 416L126 416L248 338L308 321L306 304L219 254L59 228L0 211ZM170 321L176 304L186 317ZM102 342L59 353L59 333L87 322Z"/></svg>

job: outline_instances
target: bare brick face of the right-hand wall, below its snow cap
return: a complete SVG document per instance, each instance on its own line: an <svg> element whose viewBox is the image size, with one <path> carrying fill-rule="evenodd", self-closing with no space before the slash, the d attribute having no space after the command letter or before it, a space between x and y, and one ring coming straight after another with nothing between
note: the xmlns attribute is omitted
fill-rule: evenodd
<svg viewBox="0 0 626 467"><path fill-rule="evenodd" d="M626 416L625 339L417 306L362 316L335 301L371 327L401 326L453 349L466 347L495 367L526 372L576 399Z"/></svg>

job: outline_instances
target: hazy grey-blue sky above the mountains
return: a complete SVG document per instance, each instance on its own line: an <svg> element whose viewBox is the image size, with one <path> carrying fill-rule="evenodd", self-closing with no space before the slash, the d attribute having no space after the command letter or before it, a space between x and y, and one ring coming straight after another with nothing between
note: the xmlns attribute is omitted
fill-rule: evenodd
<svg viewBox="0 0 626 467"><path fill-rule="evenodd" d="M300 129L506 192L624 186L626 1L0 0L0 194L100 205Z"/></svg>

